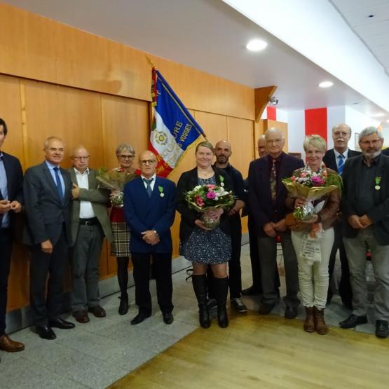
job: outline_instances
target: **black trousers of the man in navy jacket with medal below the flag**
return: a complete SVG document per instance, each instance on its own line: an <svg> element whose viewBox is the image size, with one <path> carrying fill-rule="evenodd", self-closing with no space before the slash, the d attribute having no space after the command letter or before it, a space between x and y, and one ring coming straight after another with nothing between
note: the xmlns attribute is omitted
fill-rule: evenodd
<svg viewBox="0 0 389 389"><path fill-rule="evenodd" d="M151 294L149 289L151 257L155 266L157 299L163 313L173 310L172 304L172 253L131 252L134 265L135 301L139 313L151 313Z"/></svg>

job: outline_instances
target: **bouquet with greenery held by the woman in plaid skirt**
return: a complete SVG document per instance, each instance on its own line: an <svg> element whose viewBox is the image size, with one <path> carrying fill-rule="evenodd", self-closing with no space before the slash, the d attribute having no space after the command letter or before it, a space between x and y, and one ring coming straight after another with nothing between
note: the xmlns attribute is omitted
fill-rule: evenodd
<svg viewBox="0 0 389 389"><path fill-rule="evenodd" d="M100 183L99 188L109 189L111 191L111 203L114 207L123 207L123 189L125 184L137 177L135 172L128 172L122 168L108 170L100 168L96 179Z"/></svg>

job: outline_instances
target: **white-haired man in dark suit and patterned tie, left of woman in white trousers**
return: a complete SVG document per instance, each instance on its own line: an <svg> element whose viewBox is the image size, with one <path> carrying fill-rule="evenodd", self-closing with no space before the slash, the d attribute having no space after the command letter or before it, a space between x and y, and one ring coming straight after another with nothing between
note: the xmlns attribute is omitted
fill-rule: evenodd
<svg viewBox="0 0 389 389"><path fill-rule="evenodd" d="M275 267L277 265L277 237L280 236L284 255L287 295L285 318L295 318L299 299L299 279L297 259L285 224L287 190L282 179L292 176L294 170L302 168L299 158L289 156L282 151L285 138L278 128L269 128L265 133L268 155L250 163L249 203L257 227L259 257L261 259L261 282L263 296L259 313L267 315L278 299L275 285Z"/></svg>

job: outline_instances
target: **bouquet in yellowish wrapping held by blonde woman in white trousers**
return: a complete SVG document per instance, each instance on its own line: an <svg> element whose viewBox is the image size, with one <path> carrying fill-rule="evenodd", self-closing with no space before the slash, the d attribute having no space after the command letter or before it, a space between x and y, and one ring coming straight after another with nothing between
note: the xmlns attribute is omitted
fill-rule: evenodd
<svg viewBox="0 0 389 389"><path fill-rule="evenodd" d="M339 191L342 189L341 177L336 174L328 175L324 163L320 165L318 172L312 172L309 166L306 165L296 175L282 179L282 183L286 186L290 196L307 200L306 205L296 207L293 212L293 216L302 221L311 219L313 214L320 212L324 205L324 203L320 203L321 207L319 209L318 205L316 207L313 205L313 201L322 198L335 189L339 189Z"/></svg>

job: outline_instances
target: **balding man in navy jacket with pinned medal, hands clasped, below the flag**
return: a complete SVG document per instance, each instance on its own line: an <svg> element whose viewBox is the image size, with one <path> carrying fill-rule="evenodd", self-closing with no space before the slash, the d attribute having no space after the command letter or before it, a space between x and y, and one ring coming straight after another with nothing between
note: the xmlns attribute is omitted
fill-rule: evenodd
<svg viewBox="0 0 389 389"><path fill-rule="evenodd" d="M139 313L131 320L137 325L151 316L149 291L150 260L156 275L158 305L163 321L173 322L172 236L175 220L175 183L156 176L156 156L139 154L141 176L125 184L124 216L130 226L130 251L134 265L135 301Z"/></svg>

